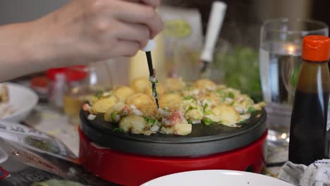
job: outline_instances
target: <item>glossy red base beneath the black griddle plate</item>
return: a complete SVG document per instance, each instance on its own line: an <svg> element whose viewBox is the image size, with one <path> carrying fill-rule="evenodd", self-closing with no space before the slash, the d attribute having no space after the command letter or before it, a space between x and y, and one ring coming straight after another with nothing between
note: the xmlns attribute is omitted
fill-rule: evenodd
<svg viewBox="0 0 330 186"><path fill-rule="evenodd" d="M264 167L267 132L259 140L239 149L200 158L139 156L97 147L79 128L80 163L104 180L120 185L141 185L163 175L183 171L225 169L259 173ZM183 149L184 151L184 149Z"/></svg>

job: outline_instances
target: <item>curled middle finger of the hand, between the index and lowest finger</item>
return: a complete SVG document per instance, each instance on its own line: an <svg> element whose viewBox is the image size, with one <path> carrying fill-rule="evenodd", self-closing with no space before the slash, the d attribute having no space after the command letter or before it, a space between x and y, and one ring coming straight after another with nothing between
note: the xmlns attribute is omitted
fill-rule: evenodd
<svg viewBox="0 0 330 186"><path fill-rule="evenodd" d="M118 29L121 32L116 34L118 39L138 42L140 49L147 45L150 38L150 32L147 26L135 23L120 23L118 26L121 28Z"/></svg>

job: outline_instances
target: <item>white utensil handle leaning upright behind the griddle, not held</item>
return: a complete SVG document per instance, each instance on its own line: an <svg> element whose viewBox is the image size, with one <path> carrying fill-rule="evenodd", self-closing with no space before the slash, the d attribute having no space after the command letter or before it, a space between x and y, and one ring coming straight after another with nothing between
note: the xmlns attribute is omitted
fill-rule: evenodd
<svg viewBox="0 0 330 186"><path fill-rule="evenodd" d="M207 25L205 46L201 56L202 61L213 61L214 46L218 39L222 23L224 23L226 8L227 5L222 1L214 1L214 3L212 4L212 10L209 15L209 23Z"/></svg>

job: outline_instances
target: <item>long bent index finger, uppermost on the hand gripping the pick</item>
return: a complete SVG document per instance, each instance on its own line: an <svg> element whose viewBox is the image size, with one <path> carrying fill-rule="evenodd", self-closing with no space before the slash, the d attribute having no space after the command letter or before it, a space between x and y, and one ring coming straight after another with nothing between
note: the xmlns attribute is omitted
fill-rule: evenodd
<svg viewBox="0 0 330 186"><path fill-rule="evenodd" d="M122 1L121 4L118 4L114 14L116 18L124 22L147 25L150 30L151 38L163 29L163 21L161 20L161 17L151 6Z"/></svg>

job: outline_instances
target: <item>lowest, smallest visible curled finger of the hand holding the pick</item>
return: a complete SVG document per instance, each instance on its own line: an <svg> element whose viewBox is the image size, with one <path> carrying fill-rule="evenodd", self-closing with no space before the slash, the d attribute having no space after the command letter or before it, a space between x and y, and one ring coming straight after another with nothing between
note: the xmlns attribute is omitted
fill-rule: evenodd
<svg viewBox="0 0 330 186"><path fill-rule="evenodd" d="M139 51L140 45L138 42L118 39L117 46L113 50L114 57L131 57Z"/></svg>

